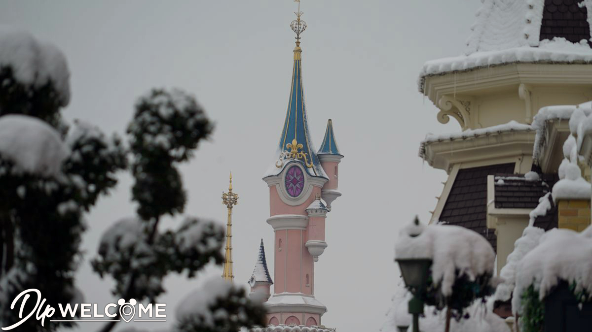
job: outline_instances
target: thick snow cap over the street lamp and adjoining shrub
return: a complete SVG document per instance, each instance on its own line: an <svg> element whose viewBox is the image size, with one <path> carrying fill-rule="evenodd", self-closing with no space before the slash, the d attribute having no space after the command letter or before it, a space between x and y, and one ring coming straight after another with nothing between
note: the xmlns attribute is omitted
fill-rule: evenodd
<svg viewBox="0 0 592 332"><path fill-rule="evenodd" d="M452 294L455 271L469 279L487 272L493 274L496 253L483 236L465 227L411 223L399 233L395 256L432 259L433 283L441 281L442 294L448 296Z"/></svg>

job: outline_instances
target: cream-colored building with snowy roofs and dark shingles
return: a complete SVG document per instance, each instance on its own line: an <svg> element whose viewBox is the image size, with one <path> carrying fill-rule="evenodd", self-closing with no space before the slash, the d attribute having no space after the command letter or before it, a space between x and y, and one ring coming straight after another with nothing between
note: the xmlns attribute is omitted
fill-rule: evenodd
<svg viewBox="0 0 592 332"><path fill-rule="evenodd" d="M420 74L437 119L461 129L421 144L420 157L448 173L430 222L481 233L498 271L557 180L577 106L554 105L592 100L592 2L582 4L485 0L465 53L428 61ZM525 178L530 171L540 177Z"/></svg>

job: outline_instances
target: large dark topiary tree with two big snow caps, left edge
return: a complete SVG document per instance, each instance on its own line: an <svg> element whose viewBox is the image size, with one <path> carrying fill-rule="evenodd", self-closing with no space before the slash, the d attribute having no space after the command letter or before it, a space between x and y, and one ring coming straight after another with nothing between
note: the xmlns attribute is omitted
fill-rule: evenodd
<svg viewBox="0 0 592 332"><path fill-rule="evenodd" d="M86 228L82 215L114 187L113 174L126 166L125 151L102 134L91 146L64 140L69 126L60 110L70 98L69 75L57 48L0 27L2 326L20 320L8 301L24 289L38 289L54 308L79 297L73 274ZM30 302L23 312L31 310ZM58 326L69 323L46 321L48 330ZM35 320L21 328L38 329Z"/></svg>

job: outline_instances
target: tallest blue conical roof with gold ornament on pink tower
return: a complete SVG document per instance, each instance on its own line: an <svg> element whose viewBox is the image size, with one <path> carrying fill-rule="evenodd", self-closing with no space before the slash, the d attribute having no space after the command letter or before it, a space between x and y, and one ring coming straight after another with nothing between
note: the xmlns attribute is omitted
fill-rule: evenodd
<svg viewBox="0 0 592 332"><path fill-rule="evenodd" d="M313 177L328 178L325 174L323 167L321 167L320 161L318 161L317 154L314 146L310 139L308 131L308 117L306 114L306 106L304 103L304 90L302 84L302 50L300 47L294 48L294 68L292 69L292 86L290 88L290 96L288 100L288 110L286 113L286 120L284 122L284 129L282 129L282 135L279 138L278 149L282 151L291 151L288 148L288 144L292 144L294 140L297 144L302 144L301 148L298 148L298 152L303 152L306 157L295 158L294 160L300 161L305 165L305 169L308 174ZM281 172L284 166L289 162L285 160L281 166L268 172L266 176L277 175ZM307 165L310 167L307 167Z"/></svg>

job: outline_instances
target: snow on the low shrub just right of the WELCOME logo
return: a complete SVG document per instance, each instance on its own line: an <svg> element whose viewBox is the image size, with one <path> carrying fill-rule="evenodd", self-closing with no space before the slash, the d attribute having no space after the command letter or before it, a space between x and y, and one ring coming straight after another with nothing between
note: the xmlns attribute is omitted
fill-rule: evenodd
<svg viewBox="0 0 592 332"><path fill-rule="evenodd" d="M189 293L176 308L175 316L177 320L192 320L202 322L203 326L215 328L214 313L210 311L210 306L215 303L217 298L226 298L232 288L232 283L222 278L212 277L204 285ZM215 312L216 318L226 314L223 310Z"/></svg>

